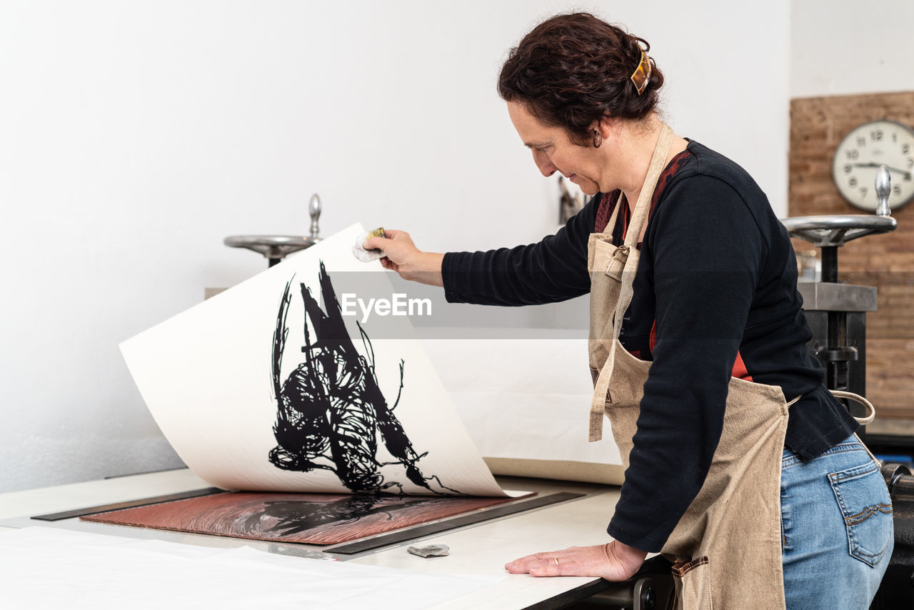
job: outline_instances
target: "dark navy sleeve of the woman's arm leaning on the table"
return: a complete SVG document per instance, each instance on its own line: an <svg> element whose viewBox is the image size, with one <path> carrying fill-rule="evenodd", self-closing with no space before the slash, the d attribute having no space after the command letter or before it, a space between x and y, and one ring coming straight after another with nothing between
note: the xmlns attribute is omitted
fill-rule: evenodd
<svg viewBox="0 0 914 610"><path fill-rule="evenodd" d="M707 477L768 252L752 210L727 182L688 177L665 199L645 240L654 282L654 361L607 530L650 552L661 550Z"/></svg>

